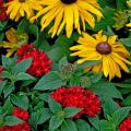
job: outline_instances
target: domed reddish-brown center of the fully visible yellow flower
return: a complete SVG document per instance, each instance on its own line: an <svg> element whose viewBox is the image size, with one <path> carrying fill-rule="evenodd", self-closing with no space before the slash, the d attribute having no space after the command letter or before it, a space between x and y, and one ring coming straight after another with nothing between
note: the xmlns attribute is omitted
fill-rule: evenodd
<svg viewBox="0 0 131 131"><path fill-rule="evenodd" d="M111 52L111 46L106 41L102 41L96 46L96 51L102 55L108 55Z"/></svg>

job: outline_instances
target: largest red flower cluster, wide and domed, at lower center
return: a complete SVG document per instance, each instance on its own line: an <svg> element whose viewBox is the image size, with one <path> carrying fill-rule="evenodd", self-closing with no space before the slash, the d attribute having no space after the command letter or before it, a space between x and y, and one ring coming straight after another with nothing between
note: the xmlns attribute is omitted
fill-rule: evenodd
<svg viewBox="0 0 131 131"><path fill-rule="evenodd" d="M60 87L51 94L51 97L59 102L62 107L83 108L73 118L80 118L82 115L95 117L100 111L99 98L93 92L79 86Z"/></svg>

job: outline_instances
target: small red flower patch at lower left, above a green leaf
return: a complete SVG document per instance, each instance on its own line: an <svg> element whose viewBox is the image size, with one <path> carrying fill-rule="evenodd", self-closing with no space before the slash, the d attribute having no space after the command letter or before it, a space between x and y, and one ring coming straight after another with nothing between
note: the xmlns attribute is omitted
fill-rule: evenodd
<svg viewBox="0 0 131 131"><path fill-rule="evenodd" d="M20 109L19 107L14 107L12 115L22 120L28 120L28 118L29 118L28 112L26 110Z"/></svg>

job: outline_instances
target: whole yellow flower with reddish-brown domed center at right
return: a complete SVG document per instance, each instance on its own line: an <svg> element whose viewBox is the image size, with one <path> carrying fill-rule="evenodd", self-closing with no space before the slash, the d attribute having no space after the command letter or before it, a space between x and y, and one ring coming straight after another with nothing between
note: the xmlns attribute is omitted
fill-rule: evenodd
<svg viewBox="0 0 131 131"><path fill-rule="evenodd" d="M70 48L75 51L71 56L79 56L81 58L78 60L79 64L85 61L100 61L96 66L85 68L85 72L90 70L96 73L104 72L106 78L109 75L109 80L115 76L121 78L121 69L129 73L126 63L131 66L131 62L126 58L130 53L121 43L116 41L116 35L107 37L102 33L103 31L94 36L83 33L83 37L80 37L78 40L80 45Z"/></svg>

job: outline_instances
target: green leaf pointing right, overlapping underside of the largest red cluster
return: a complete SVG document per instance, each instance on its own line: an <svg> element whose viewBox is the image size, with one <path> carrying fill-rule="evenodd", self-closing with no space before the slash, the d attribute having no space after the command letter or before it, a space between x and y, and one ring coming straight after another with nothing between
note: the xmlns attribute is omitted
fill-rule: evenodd
<svg viewBox="0 0 131 131"><path fill-rule="evenodd" d="M81 108L75 108L75 107L67 107L63 109L66 112L66 118L70 118L75 116L78 112L80 112L82 109Z"/></svg>

